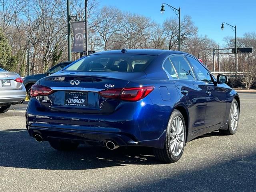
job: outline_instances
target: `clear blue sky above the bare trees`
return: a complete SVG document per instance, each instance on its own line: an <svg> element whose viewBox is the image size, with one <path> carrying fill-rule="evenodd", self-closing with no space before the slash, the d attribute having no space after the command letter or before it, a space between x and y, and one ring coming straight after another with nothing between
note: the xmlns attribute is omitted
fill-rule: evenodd
<svg viewBox="0 0 256 192"><path fill-rule="evenodd" d="M246 32L256 32L256 0L100 0L100 6L116 6L123 11L148 16L158 23L167 17L175 17L174 12L165 7L160 14L162 3L181 8L181 17L189 15L198 27L198 34L207 35L220 46L225 36L234 36L227 25L222 31L222 22L237 26L237 36Z"/></svg>

